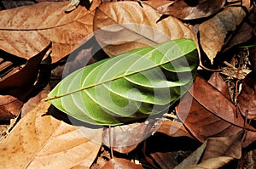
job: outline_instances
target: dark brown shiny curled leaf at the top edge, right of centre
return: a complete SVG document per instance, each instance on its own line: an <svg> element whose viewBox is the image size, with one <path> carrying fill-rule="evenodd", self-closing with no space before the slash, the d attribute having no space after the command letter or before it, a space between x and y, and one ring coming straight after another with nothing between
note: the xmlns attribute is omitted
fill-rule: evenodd
<svg viewBox="0 0 256 169"><path fill-rule="evenodd" d="M188 2L195 3L189 4ZM160 14L171 14L181 20L195 20L217 13L224 7L225 0L177 0L168 8L159 8Z"/></svg>

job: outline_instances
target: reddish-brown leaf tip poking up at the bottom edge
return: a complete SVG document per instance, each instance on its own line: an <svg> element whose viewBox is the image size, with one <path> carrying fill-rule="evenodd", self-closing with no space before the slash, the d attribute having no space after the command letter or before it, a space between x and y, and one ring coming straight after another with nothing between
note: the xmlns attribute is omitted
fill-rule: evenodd
<svg viewBox="0 0 256 169"><path fill-rule="evenodd" d="M121 158L113 158L108 161L102 169L143 169L143 166L132 163L131 161L127 161Z"/></svg>

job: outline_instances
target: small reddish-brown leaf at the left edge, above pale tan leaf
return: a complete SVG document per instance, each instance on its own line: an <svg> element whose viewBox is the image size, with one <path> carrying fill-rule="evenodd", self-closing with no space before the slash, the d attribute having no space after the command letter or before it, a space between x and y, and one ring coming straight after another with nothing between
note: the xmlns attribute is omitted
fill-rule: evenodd
<svg viewBox="0 0 256 169"><path fill-rule="evenodd" d="M10 95L0 95L0 121L9 121L19 115L23 103Z"/></svg>

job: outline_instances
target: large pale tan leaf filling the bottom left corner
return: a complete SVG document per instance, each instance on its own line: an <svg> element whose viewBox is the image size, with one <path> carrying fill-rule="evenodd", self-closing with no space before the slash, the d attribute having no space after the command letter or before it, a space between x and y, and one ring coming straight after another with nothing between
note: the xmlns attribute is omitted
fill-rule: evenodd
<svg viewBox="0 0 256 169"><path fill-rule="evenodd" d="M44 115L49 105L38 104L1 142L1 168L90 167L101 147L102 129L74 127Z"/></svg>

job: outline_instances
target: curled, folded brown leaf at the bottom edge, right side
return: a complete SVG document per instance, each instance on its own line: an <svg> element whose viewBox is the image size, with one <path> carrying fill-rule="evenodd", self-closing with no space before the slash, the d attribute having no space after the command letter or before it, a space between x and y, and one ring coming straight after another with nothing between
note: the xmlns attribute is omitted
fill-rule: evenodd
<svg viewBox="0 0 256 169"><path fill-rule="evenodd" d="M200 148L196 149L175 169L219 168L233 159L239 159L241 158L241 136L242 132L230 135L230 137L207 138Z"/></svg>

